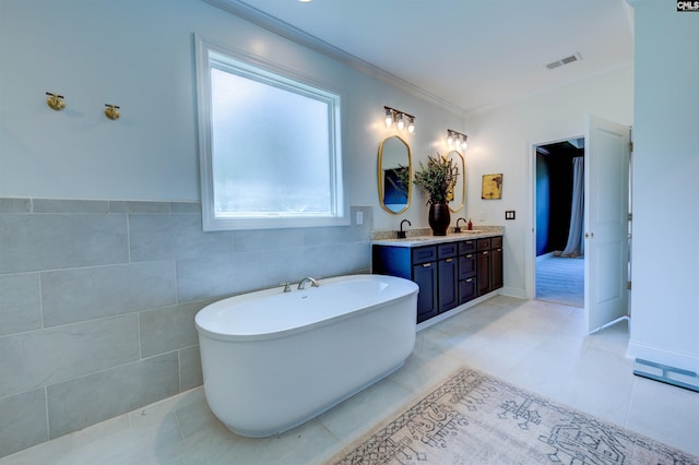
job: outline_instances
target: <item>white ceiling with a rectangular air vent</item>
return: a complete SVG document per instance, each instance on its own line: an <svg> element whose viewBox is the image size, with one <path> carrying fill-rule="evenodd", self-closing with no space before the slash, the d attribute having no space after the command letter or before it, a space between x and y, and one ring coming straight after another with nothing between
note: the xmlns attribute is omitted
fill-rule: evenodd
<svg viewBox="0 0 699 465"><path fill-rule="evenodd" d="M461 114L633 59L626 0L205 1Z"/></svg>

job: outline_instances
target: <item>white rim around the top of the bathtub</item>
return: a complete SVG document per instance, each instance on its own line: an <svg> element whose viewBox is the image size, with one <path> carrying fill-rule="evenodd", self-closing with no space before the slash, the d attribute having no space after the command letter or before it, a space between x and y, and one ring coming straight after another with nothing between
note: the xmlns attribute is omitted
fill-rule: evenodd
<svg viewBox="0 0 699 465"><path fill-rule="evenodd" d="M232 296L232 297L226 297L223 298L221 300L217 300L215 302L212 302L205 307L203 307L201 310L199 310L197 312L197 314L194 315L194 325L197 327L197 331L199 333L200 337L210 337L213 339L218 339L218 341L230 341L230 342L252 342L252 341L264 341L264 339L275 339L275 338L281 338L281 337L287 337L291 336L293 334L298 334L298 333L303 333L306 331L312 331L329 324L333 324L336 323L339 321L345 320L345 319L350 319L350 318L354 318L354 317L358 317L360 314L364 313L368 313L371 311L376 311L377 309L383 307L383 306L388 306L388 305L392 305L393 302L395 302L396 300L402 300L402 299L410 299L413 295L416 295L419 291L419 286L410 281L410 279L405 279L402 277L398 277L398 276L390 276L390 275L381 275L381 274L352 274L352 275L342 275L342 276L335 276L335 277L330 277L330 278L323 278L323 279L319 279L320 285L322 286L323 284L332 284L335 282L342 282L342 281L360 281L360 279L367 279L369 277L372 278L387 278L389 282L395 282L395 283L400 283L401 285L406 286L406 293L402 294L398 297L394 297L390 300L383 300L383 301L379 301L377 303L367 306L367 307L363 307L363 308L358 308L345 313L341 313L341 314L336 314L334 317L330 317L327 318L324 320L320 320L320 321L315 321L312 323L308 323L306 325L303 326L294 326L294 327L289 327L289 329L285 329L285 330L279 330L279 331L273 331L273 332L269 332L269 333L254 333L254 334L226 334L226 333L221 333L221 332L216 332L216 331L211 331L206 327L203 327L200 322L199 322L199 314L204 312L204 310L210 309L209 311L213 311L211 310L211 308L213 306L216 305L222 305L222 302L226 301L226 300L240 300L240 301L245 301L248 299L253 299L256 297L265 297L265 296L274 296L277 294L282 294L284 286L277 286L277 287L273 287L270 289L263 289L263 290L253 290L250 293L245 293L245 294L239 294L237 296ZM312 289L306 289L306 290L312 290ZM417 325L417 323L415 323Z"/></svg>

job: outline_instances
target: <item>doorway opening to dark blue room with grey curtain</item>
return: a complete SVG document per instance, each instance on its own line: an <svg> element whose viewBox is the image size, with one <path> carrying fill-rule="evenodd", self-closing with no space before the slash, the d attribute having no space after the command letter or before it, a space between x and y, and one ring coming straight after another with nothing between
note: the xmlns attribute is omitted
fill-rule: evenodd
<svg viewBox="0 0 699 465"><path fill-rule="evenodd" d="M584 138L535 151L534 298L584 308Z"/></svg>

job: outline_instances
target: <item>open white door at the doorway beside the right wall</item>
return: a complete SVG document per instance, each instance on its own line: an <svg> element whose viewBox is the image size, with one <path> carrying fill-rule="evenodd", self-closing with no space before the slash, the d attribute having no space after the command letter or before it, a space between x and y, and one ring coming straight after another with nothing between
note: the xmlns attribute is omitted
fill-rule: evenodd
<svg viewBox="0 0 699 465"><path fill-rule="evenodd" d="M628 314L629 127L585 120L585 312L593 332Z"/></svg>

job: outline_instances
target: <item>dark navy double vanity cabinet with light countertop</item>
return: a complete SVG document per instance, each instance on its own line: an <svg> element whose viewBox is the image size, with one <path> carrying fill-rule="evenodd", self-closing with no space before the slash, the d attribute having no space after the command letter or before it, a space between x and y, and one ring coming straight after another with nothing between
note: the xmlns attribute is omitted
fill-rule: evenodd
<svg viewBox="0 0 699 465"><path fill-rule="evenodd" d="M419 286L417 323L502 287L502 236L376 241L371 270Z"/></svg>

